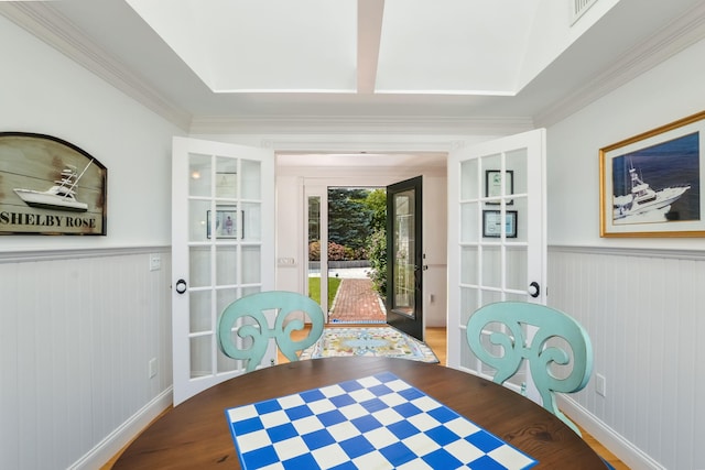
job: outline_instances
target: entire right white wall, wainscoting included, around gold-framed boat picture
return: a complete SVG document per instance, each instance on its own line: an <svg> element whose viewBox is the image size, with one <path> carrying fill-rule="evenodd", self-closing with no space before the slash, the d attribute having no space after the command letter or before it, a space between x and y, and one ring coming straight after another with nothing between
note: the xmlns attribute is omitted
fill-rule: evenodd
<svg viewBox="0 0 705 470"><path fill-rule="evenodd" d="M705 242L600 238L598 150L705 109L703 57L705 41L547 130L549 304L587 325L607 379L579 418L633 468L705 469Z"/></svg>

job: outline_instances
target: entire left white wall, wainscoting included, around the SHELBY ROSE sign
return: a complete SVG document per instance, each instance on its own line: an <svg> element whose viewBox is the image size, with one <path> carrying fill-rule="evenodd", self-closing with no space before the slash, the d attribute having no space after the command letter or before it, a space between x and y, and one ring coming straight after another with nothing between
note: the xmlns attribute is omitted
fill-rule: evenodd
<svg viewBox="0 0 705 470"><path fill-rule="evenodd" d="M106 237L0 236L0 468L97 468L171 403L182 132L3 17L0 57L0 130L64 139L108 170Z"/></svg>

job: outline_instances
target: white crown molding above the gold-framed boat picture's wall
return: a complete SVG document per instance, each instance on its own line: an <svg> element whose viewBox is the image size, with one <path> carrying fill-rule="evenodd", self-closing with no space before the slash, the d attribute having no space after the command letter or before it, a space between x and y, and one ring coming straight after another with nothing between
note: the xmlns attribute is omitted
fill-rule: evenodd
<svg viewBox="0 0 705 470"><path fill-rule="evenodd" d="M625 53L588 85L534 116L549 127L587 107L705 37L705 2L691 9L650 39Z"/></svg>

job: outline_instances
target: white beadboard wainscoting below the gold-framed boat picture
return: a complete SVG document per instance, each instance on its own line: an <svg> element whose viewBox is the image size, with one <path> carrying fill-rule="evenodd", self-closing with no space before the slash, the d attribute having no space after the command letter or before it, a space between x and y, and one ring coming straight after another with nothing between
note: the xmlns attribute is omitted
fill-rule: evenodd
<svg viewBox="0 0 705 470"><path fill-rule="evenodd" d="M705 253L552 248L547 287L593 341L593 378L572 397L662 468L705 469Z"/></svg>

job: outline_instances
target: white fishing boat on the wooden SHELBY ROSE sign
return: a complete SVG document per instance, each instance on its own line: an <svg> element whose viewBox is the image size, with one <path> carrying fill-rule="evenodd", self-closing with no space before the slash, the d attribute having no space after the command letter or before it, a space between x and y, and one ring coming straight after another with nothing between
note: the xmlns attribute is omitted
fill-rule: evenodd
<svg viewBox="0 0 705 470"><path fill-rule="evenodd" d="M91 163L93 160L80 174L75 166L66 165L61 173L61 179L55 181L54 186L45 192L14 188L14 193L31 207L85 212L88 210L88 205L76 199L76 187Z"/></svg>

